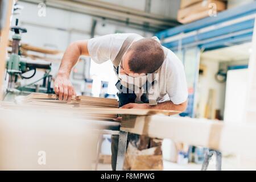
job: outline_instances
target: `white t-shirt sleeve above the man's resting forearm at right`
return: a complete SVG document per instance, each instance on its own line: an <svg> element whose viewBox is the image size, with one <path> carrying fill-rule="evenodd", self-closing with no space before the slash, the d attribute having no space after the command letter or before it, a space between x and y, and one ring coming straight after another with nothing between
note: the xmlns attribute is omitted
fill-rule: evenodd
<svg viewBox="0 0 256 182"><path fill-rule="evenodd" d="M188 88L184 67L179 58L173 54L170 61L170 69L167 73L167 93L170 100L176 104L182 104L188 99Z"/></svg>

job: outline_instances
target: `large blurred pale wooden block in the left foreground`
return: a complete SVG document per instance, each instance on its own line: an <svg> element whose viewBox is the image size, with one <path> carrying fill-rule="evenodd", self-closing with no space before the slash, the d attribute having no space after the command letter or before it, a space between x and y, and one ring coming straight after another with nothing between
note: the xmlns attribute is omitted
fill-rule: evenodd
<svg viewBox="0 0 256 182"><path fill-rule="evenodd" d="M119 122L0 105L0 170L91 170L97 137L106 133L119 133ZM40 151L45 166L38 164Z"/></svg>

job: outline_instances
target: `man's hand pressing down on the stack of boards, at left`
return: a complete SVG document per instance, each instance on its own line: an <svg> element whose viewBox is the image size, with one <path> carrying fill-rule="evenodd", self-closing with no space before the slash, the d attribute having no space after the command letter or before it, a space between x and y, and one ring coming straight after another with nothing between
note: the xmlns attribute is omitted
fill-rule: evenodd
<svg viewBox="0 0 256 182"><path fill-rule="evenodd" d="M71 101L72 97L76 96L76 91L67 76L58 75L55 79L54 85L55 93L59 94L60 101Z"/></svg>

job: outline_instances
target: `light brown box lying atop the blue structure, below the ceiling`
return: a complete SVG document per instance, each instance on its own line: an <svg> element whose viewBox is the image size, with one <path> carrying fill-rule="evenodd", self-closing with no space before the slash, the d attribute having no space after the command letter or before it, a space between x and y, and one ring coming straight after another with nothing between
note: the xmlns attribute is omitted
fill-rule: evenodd
<svg viewBox="0 0 256 182"><path fill-rule="evenodd" d="M177 20L180 23L190 23L195 20L199 20L209 16L212 11L211 3L216 5L216 11L220 12L226 9L225 1L217 0L205 0L198 2L192 6L186 7L185 9L180 9L178 11Z"/></svg>

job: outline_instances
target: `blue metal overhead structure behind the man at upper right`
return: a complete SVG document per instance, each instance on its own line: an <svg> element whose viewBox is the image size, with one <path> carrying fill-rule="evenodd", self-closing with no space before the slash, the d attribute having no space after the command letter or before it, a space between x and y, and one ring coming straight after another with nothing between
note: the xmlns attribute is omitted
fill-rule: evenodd
<svg viewBox="0 0 256 182"><path fill-rule="evenodd" d="M218 13L196 22L184 24L156 33L163 46L172 51L182 51L183 55L192 48L209 51L218 48L251 42L256 16L256 2ZM183 59L183 60L182 60ZM185 58L182 57L185 65ZM200 59L197 57L197 59ZM194 61L199 64L199 61ZM197 66L197 65L195 65ZM230 68L236 69L236 68ZM198 75L195 75L197 79ZM193 92L188 96L187 110L181 116L194 117L196 81L190 82ZM193 88L192 88L193 87Z"/></svg>

